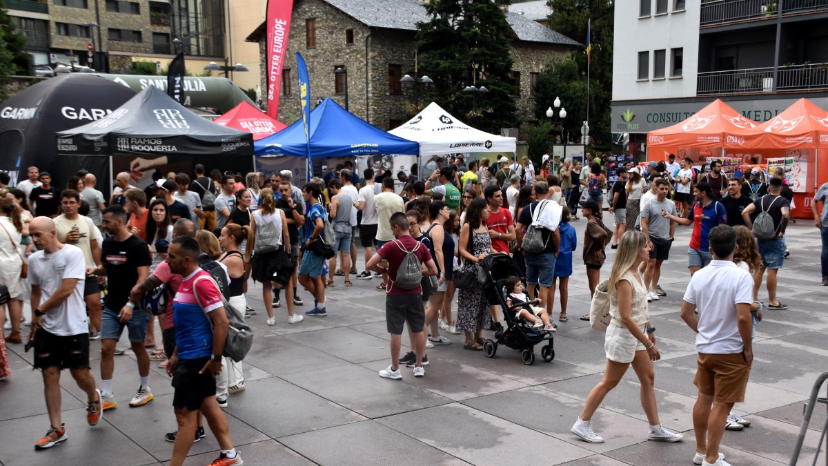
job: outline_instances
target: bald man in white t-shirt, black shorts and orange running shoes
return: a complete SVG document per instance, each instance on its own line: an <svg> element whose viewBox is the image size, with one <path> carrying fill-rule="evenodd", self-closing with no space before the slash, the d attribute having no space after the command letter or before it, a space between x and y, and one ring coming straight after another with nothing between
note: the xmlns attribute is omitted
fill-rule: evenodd
<svg viewBox="0 0 828 466"><path fill-rule="evenodd" d="M81 390L86 392L86 420L98 424L100 392L89 371L89 333L84 305L86 260L84 252L57 239L55 222L46 216L29 224L37 252L29 257L31 284L31 330L34 332L35 363L41 369L46 393L46 410L51 423L36 449L47 449L67 439L60 419L60 369L67 367Z"/></svg>

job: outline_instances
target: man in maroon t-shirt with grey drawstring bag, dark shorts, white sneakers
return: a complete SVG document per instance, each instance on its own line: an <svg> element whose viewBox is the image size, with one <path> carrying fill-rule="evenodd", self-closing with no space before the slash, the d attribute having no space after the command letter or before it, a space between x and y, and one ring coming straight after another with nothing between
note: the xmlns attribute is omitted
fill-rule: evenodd
<svg viewBox="0 0 828 466"><path fill-rule="evenodd" d="M420 285L411 289L402 288L395 286L395 282L398 279L400 266L407 260L409 254L414 254L421 266L426 266L426 270L422 272L423 276L436 275L437 266L434 264L434 260L431 259L428 248L422 246L409 234L409 221L406 214L395 212L388 222L391 225L394 240L380 246L377 254L373 255L366 265L368 270L388 274L388 289L386 289L385 294L385 320L388 333L391 334L391 342L389 343L391 365L383 371L379 371L379 376L394 380L402 379L402 373L399 369L402 327L405 323L408 323L409 331L412 333L412 349L415 352L415 361L409 362L407 366L414 368L414 376L421 377L426 375L423 368L426 363L423 361L426 354L426 335L423 332L426 316L422 307L422 289ZM381 265L383 261L387 263L387 266L383 267Z"/></svg>

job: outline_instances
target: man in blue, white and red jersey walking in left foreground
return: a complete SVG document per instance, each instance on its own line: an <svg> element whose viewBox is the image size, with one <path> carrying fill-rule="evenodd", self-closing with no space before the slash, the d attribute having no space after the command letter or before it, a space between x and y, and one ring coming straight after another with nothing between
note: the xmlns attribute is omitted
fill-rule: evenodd
<svg viewBox="0 0 828 466"><path fill-rule="evenodd" d="M170 270L184 277L172 303L176 351L166 366L176 389L172 406L179 426L170 464L184 464L195 439L196 413L201 411L219 442L219 458L211 466L238 466L242 457L233 448L227 418L215 399L229 322L218 286L198 265L199 255L198 241L180 236L172 240L166 258Z"/></svg>

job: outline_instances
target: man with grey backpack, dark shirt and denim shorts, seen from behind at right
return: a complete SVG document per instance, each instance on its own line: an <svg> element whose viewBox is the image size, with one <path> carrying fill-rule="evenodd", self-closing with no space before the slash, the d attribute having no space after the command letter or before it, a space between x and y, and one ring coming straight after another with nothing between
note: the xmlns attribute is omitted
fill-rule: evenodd
<svg viewBox="0 0 828 466"><path fill-rule="evenodd" d="M776 177L771 178L768 183L768 194L759 197L742 211L744 225L753 229L759 254L762 255L762 268L757 274L753 297L757 296L767 269L768 280L765 286L768 288L768 309L787 309L787 305L777 299L777 274L785 263L785 244L782 236L785 235L790 216L791 202L782 197L782 179Z"/></svg>

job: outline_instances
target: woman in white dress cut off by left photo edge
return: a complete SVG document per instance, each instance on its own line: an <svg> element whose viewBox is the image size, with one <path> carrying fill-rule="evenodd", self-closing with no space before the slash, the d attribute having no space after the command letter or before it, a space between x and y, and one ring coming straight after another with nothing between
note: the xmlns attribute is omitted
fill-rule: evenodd
<svg viewBox="0 0 828 466"><path fill-rule="evenodd" d="M6 285L11 299L8 300L9 319L12 323L12 333L6 337L6 342L21 343L20 322L23 318L23 304L21 297L26 293L26 280L20 273L23 267L23 256L20 254L20 241L24 234L24 225L21 209L8 197L0 198L0 284ZM26 233L27 234L27 233ZM4 324L6 306L0 306L0 325ZM0 342L0 344L4 344Z"/></svg>

